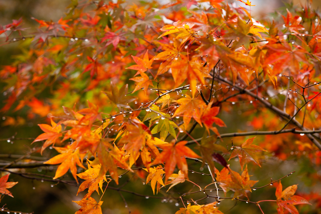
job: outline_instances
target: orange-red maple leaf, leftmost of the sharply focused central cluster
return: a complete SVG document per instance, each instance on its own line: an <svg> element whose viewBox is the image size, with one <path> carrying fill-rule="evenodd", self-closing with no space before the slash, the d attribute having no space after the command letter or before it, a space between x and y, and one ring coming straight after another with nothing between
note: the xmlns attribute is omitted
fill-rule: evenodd
<svg viewBox="0 0 321 214"><path fill-rule="evenodd" d="M51 126L48 124L38 124L40 129L45 133L40 134L33 142L46 140L41 148L41 155L43 150L45 150L49 145L54 144L58 140L59 137L62 136L61 125L57 125L52 118L50 118Z"/></svg>

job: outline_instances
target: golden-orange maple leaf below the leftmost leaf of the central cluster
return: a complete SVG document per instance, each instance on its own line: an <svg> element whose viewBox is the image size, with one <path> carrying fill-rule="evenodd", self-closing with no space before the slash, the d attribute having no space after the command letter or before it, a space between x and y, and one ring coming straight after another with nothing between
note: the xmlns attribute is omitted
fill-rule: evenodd
<svg viewBox="0 0 321 214"><path fill-rule="evenodd" d="M74 150L72 146L67 146L65 148L61 148L61 147L53 147L53 148L61 154L56 155L55 157L44 162L44 164L53 164L53 165L60 164L56 170L56 175L53 179L57 179L58 177L65 175L67 171L70 169L71 174L74 176L74 179L77 181L77 184L78 184L78 179L76 176L76 173L77 173L76 165L86 169L79 160L79 150L78 149Z"/></svg>

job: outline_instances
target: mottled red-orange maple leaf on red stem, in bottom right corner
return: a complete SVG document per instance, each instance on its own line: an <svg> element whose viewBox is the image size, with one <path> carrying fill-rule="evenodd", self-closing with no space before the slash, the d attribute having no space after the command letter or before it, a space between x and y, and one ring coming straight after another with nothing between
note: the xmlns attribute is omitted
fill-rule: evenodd
<svg viewBox="0 0 321 214"><path fill-rule="evenodd" d="M278 214L283 214L284 208L292 214L299 214L298 210L294 207L294 205L310 204L306 199L294 195L294 193L297 191L297 188L298 185L295 184L287 187L285 190L282 191L282 184L280 181L275 191L276 203L278 204Z"/></svg>

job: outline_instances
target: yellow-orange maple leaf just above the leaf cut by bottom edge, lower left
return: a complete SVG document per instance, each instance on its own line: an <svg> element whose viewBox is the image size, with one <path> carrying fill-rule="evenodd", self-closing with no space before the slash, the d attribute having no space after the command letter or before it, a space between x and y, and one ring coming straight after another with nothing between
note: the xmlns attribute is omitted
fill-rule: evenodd
<svg viewBox="0 0 321 214"><path fill-rule="evenodd" d="M98 186L100 187L101 191L102 190L102 183L103 181L106 180L106 177L99 177L99 172L100 172L100 164L94 165L92 166L92 161L87 160L88 162L88 169L83 172L83 173L79 173L77 174L78 177L80 177L81 179L84 179L85 181L82 182L79 186L78 193L84 191L85 189L88 188L88 196L91 195L91 193L93 193L95 190L98 192Z"/></svg>

